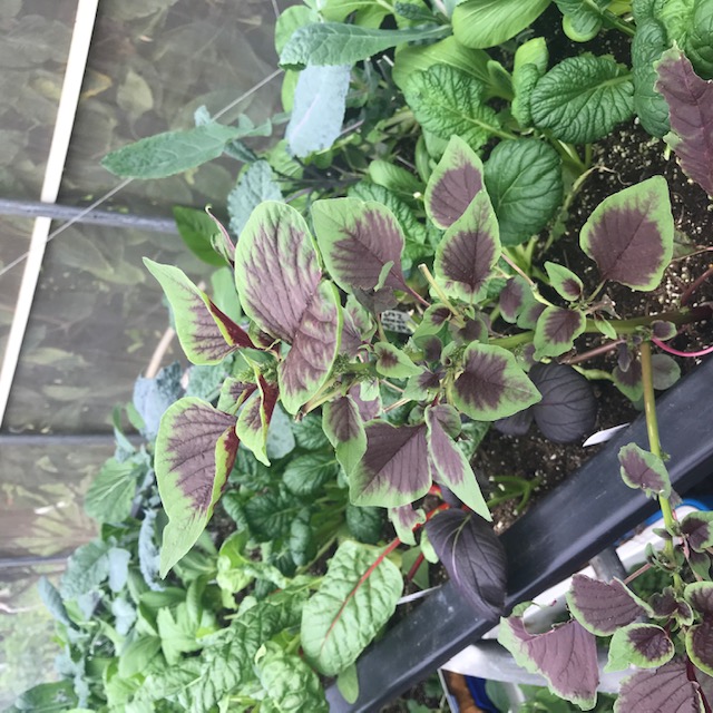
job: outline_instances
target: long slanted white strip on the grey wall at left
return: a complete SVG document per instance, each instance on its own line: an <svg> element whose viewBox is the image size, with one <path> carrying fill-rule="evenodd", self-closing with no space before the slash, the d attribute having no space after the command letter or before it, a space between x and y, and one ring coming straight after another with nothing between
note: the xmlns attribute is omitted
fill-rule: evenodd
<svg viewBox="0 0 713 713"><path fill-rule="evenodd" d="M57 108L57 121L40 193L42 203L55 203L59 194L69 140L75 126L81 82L87 68L87 57L91 45L98 6L99 0L78 0L77 2L75 28L67 56L67 70L65 71L65 81ZM22 349L25 333L30 319L30 310L32 309L51 223L50 218L40 217L35 221L32 228L30 248L18 292L18 301L14 307L12 325L10 326L8 344L4 350L2 368L0 369L0 427L4 418L12 380L14 379L20 350Z"/></svg>

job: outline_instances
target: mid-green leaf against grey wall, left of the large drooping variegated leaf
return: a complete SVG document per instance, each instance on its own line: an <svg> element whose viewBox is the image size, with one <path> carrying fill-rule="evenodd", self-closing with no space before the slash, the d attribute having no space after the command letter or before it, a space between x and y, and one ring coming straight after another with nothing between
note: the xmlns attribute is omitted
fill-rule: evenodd
<svg viewBox="0 0 713 713"><path fill-rule="evenodd" d="M107 460L85 496L85 511L99 522L121 522L131 512L137 477L143 472L130 460Z"/></svg>

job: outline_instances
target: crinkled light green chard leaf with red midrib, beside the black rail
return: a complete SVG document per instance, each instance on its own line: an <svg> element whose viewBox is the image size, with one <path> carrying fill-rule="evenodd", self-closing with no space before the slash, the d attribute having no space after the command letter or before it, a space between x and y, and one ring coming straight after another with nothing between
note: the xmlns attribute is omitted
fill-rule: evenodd
<svg viewBox="0 0 713 713"><path fill-rule="evenodd" d="M302 612L304 654L328 676L356 661L393 614L403 580L380 550L343 543Z"/></svg>

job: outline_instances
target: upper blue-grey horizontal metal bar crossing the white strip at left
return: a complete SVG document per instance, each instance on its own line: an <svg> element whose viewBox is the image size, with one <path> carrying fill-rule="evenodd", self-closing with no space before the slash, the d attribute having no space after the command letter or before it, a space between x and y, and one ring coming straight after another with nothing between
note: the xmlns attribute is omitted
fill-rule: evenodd
<svg viewBox="0 0 713 713"><path fill-rule="evenodd" d="M17 215L25 218L46 217L52 221L72 221L75 223L133 228L152 233L170 233L174 235L178 233L173 218L133 215L113 211L90 211L87 213L84 207L41 203L40 201L0 198L0 215Z"/></svg>

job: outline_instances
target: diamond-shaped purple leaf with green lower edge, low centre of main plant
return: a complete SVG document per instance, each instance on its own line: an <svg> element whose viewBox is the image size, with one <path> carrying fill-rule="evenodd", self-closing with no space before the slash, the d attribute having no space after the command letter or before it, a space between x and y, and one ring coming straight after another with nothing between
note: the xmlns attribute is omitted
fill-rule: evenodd
<svg viewBox="0 0 713 713"><path fill-rule="evenodd" d="M349 476L351 501L399 507L423 497L431 487L426 424L372 421L364 430L367 451Z"/></svg>

